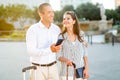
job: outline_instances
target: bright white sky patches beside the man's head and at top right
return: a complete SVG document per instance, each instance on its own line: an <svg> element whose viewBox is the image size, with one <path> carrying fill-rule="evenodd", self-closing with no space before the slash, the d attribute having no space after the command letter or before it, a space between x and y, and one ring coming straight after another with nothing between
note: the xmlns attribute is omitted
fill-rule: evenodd
<svg viewBox="0 0 120 80"><path fill-rule="evenodd" d="M93 4L100 3L103 4L105 9L114 9L115 8L115 0L92 0ZM50 3L54 10L60 10L59 0L50 0Z"/></svg>

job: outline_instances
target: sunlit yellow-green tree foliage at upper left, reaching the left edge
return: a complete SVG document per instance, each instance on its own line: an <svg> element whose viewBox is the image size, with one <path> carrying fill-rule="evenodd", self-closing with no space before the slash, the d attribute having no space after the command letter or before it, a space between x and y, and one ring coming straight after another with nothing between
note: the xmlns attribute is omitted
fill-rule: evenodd
<svg viewBox="0 0 120 80"><path fill-rule="evenodd" d="M24 4L12 4L0 6L0 18L5 19L9 23L18 21L21 27L24 26L28 19L34 19L33 10L29 9Z"/></svg>

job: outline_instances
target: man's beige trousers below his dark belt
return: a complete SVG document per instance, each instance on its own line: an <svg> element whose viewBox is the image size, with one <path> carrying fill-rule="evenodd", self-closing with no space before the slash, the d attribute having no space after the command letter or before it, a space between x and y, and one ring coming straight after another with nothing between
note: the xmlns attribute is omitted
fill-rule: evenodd
<svg viewBox="0 0 120 80"><path fill-rule="evenodd" d="M30 80L60 80L57 64L50 67L37 66L36 71L30 71Z"/></svg>

